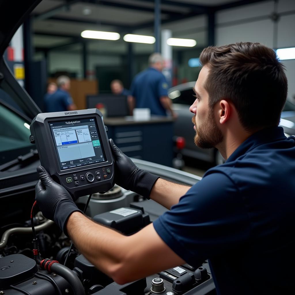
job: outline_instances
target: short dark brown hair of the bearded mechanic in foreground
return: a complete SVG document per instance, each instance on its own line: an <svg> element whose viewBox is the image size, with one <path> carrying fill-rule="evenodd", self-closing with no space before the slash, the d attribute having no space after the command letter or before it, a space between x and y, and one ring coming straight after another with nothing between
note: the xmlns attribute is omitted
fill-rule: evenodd
<svg viewBox="0 0 295 295"><path fill-rule="evenodd" d="M205 48L200 62L209 68L209 105L230 99L249 131L277 126L287 98L287 78L276 53L260 43Z"/></svg>

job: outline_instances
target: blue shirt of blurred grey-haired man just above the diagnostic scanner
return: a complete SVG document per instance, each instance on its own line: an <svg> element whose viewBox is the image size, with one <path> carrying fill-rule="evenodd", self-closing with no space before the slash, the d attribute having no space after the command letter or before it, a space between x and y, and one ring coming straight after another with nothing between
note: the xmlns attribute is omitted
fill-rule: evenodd
<svg viewBox="0 0 295 295"><path fill-rule="evenodd" d="M68 91L59 88L52 94L46 94L44 102L46 112L65 112L73 104L73 99Z"/></svg>

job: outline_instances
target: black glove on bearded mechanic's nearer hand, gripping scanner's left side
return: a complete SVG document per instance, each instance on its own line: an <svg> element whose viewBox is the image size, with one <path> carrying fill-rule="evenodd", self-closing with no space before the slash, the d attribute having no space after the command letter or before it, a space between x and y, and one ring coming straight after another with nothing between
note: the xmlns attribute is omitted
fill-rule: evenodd
<svg viewBox="0 0 295 295"><path fill-rule="evenodd" d="M42 166L37 167L37 173L40 178L35 187L37 205L44 217L53 220L68 235L68 218L73 212L82 211L73 202L68 191L56 183Z"/></svg>

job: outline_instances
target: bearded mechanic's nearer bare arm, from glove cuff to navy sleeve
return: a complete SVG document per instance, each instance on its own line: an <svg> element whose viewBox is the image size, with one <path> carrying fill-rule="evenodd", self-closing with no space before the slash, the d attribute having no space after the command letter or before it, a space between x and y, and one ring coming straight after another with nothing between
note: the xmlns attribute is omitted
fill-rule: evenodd
<svg viewBox="0 0 295 295"><path fill-rule="evenodd" d="M184 263L159 237L153 224L124 236L74 212L67 230L80 252L118 284Z"/></svg>

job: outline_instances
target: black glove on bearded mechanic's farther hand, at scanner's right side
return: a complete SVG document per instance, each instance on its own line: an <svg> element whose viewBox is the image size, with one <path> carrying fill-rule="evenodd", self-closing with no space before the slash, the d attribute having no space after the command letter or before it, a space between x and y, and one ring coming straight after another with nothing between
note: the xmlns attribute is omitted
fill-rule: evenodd
<svg viewBox="0 0 295 295"><path fill-rule="evenodd" d="M124 189L134 191L147 199L159 176L139 169L110 138L109 143L115 159L115 183Z"/></svg>

